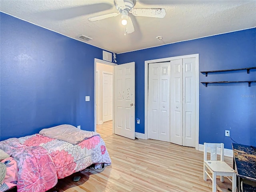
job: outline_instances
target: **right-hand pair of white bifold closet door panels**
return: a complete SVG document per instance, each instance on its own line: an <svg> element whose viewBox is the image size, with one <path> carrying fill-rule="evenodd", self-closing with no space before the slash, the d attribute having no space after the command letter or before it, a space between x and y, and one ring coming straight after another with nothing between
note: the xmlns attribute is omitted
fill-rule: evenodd
<svg viewBox="0 0 256 192"><path fill-rule="evenodd" d="M196 58L170 63L170 142L195 147Z"/></svg>

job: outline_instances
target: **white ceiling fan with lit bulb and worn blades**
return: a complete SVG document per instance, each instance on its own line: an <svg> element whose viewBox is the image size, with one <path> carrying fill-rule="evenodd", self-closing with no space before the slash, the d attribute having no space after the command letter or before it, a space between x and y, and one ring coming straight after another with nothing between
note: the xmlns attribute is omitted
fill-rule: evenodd
<svg viewBox="0 0 256 192"><path fill-rule="evenodd" d="M110 13L105 15L100 15L92 18L88 18L88 21L94 22L110 17L116 17L121 14L122 25L125 26L125 32L128 34L134 32L134 26L132 24L131 18L128 13L132 13L134 16L144 16L144 17L156 17L164 18L166 11L164 8L134 8L136 0L114 0L114 5L119 13Z"/></svg>

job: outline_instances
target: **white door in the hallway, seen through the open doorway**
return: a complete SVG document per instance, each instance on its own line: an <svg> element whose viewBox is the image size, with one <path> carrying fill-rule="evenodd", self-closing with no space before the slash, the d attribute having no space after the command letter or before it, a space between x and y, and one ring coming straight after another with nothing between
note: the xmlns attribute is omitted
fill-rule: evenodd
<svg viewBox="0 0 256 192"><path fill-rule="evenodd" d="M113 110L113 75L102 72L102 121L112 120Z"/></svg>

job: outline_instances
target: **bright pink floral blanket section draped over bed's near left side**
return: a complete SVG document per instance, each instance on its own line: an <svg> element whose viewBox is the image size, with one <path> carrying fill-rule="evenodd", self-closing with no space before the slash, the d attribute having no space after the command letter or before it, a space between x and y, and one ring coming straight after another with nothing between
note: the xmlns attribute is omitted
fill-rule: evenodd
<svg viewBox="0 0 256 192"><path fill-rule="evenodd" d="M26 146L18 138L1 141L0 148L17 162L18 191L40 192L56 185L56 168L46 149Z"/></svg>

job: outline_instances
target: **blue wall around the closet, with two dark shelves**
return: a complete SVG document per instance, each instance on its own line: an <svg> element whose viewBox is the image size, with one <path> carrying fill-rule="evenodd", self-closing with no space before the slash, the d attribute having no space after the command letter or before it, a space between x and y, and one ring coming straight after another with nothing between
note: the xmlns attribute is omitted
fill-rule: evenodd
<svg viewBox="0 0 256 192"><path fill-rule="evenodd" d="M144 133L144 61L172 56L199 54L199 71L256 66L256 29L242 30L186 42L118 54L118 63L135 61L135 131ZM199 74L199 81L256 80L256 70ZM225 130L236 142L256 146L256 83L199 85L199 143L224 142Z"/></svg>

